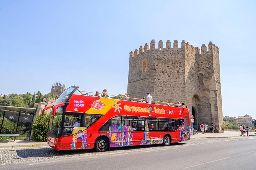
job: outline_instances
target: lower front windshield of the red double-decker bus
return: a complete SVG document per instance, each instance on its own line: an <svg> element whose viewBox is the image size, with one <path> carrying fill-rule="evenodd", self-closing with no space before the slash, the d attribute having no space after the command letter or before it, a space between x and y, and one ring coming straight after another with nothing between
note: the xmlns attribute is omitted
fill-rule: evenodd
<svg viewBox="0 0 256 170"><path fill-rule="evenodd" d="M55 115L51 115L49 134L51 136L60 137L61 136L61 122L63 117L63 107L58 107L56 109Z"/></svg>

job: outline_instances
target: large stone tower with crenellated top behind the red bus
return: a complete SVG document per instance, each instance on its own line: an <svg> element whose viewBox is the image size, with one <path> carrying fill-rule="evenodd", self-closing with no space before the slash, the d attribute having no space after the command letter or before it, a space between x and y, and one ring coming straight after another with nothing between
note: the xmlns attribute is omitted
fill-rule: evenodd
<svg viewBox="0 0 256 170"><path fill-rule="evenodd" d="M183 40L181 48L174 40L146 43L139 50L130 52L127 92L130 97L142 98L147 92L155 101L187 103L194 124L211 125L215 132L223 130L220 64L218 47L203 44L199 47ZM192 125L192 123L191 123Z"/></svg>

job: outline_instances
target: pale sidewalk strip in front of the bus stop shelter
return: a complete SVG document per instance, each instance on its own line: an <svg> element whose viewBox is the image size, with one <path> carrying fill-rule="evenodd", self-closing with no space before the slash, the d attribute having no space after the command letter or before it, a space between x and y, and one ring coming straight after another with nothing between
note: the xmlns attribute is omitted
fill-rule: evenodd
<svg viewBox="0 0 256 170"><path fill-rule="evenodd" d="M28 140L21 141L0 141L0 148L22 148L22 147L40 147L48 146L46 142L32 142Z"/></svg>

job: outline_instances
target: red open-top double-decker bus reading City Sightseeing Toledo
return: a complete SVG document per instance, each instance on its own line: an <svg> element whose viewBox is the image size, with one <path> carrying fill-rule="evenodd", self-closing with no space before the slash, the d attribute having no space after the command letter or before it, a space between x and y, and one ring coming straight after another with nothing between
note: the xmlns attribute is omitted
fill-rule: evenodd
<svg viewBox="0 0 256 170"><path fill-rule="evenodd" d="M81 94L75 94L78 91ZM187 106L83 95L69 87L52 108L47 144L56 150L163 144L190 139Z"/></svg>

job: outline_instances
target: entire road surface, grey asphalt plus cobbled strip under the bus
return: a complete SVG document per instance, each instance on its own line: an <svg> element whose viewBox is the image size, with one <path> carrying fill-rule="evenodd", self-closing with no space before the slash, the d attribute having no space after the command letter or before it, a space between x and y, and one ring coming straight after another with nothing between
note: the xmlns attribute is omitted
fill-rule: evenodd
<svg viewBox="0 0 256 170"><path fill-rule="evenodd" d="M110 152L0 149L0 169L256 169L256 138L192 139L168 147L134 146ZM12 155L13 153L15 155ZM9 156L10 155L10 156ZM38 162L38 160L41 160ZM7 165L4 165L7 164Z"/></svg>

